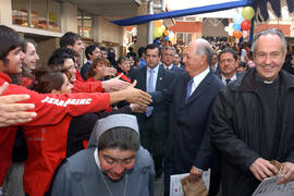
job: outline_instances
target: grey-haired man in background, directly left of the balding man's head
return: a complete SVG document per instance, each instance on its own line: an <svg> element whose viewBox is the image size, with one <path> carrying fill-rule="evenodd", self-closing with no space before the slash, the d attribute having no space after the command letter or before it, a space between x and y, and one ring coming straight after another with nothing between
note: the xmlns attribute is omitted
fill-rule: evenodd
<svg viewBox="0 0 294 196"><path fill-rule="evenodd" d="M162 62L163 62L163 68L167 70L170 70L175 73L181 73L185 72L184 69L175 66L173 64L174 59L175 59L175 48L174 47L164 47L162 51Z"/></svg>

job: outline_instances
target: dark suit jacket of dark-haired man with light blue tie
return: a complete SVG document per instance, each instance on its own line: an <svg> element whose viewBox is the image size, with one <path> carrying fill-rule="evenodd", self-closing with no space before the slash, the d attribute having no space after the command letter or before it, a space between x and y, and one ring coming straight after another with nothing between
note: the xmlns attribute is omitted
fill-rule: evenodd
<svg viewBox="0 0 294 196"><path fill-rule="evenodd" d="M147 66L144 66L138 70L134 70L132 72L131 78L132 81L136 79L137 85L136 88L139 88L144 91L146 91L146 73ZM150 95L156 97L158 94L162 95L163 91L168 89L169 86L173 85L174 82L174 73L170 72L168 70L164 70L161 65L158 70L158 76L157 76L157 83L156 83L156 91L150 93ZM155 130L156 132L168 132L168 113L169 113L169 106L166 102L166 99L160 98L157 99L157 105L154 105L154 111L151 118L154 118L155 122ZM139 128L142 128L142 125L146 121L145 113L138 113L136 114Z"/></svg>

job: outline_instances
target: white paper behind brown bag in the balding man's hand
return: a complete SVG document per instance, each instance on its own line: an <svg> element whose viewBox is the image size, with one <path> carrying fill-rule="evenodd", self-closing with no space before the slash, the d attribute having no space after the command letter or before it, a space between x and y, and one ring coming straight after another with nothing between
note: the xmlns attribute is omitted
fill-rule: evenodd
<svg viewBox="0 0 294 196"><path fill-rule="evenodd" d="M189 173L183 174L175 174L171 175L171 183L170 183L170 196L184 196L181 179L187 176ZM210 182L210 169L204 171L203 180L207 189L209 189L209 182Z"/></svg>

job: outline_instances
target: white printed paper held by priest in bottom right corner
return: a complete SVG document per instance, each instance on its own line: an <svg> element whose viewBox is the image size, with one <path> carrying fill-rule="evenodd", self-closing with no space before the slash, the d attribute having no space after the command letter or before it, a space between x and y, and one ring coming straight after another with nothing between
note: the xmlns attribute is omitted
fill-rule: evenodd
<svg viewBox="0 0 294 196"><path fill-rule="evenodd" d="M293 196L294 181L277 185L279 176L265 179L254 192L253 196Z"/></svg>

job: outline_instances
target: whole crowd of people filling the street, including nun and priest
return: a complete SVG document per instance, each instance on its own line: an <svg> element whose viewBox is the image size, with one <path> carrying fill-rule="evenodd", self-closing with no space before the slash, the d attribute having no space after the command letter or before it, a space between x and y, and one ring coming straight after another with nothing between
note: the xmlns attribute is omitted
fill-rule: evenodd
<svg viewBox="0 0 294 196"><path fill-rule="evenodd" d="M38 65L14 29L0 25L0 195L154 195L163 175L169 196L171 175L209 168L211 196L294 180L294 53L279 29L119 58L69 32Z"/></svg>

